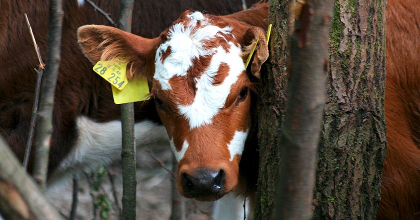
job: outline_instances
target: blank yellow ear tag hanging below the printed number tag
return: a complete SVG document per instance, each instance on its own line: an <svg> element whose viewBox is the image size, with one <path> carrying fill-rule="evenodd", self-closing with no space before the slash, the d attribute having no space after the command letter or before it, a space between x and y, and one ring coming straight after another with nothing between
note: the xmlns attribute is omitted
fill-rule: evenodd
<svg viewBox="0 0 420 220"><path fill-rule="evenodd" d="M112 94L115 104L125 104L150 99L150 91L145 77L129 81L123 90L118 90L112 86Z"/></svg>

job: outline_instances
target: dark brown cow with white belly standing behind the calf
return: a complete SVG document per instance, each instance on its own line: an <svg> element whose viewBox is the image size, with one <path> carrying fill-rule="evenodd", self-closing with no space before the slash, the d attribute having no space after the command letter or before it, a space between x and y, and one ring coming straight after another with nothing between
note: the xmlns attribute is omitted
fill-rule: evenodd
<svg viewBox="0 0 420 220"><path fill-rule="evenodd" d="M25 151L36 81L34 68L39 64L23 14L28 14L41 54L46 57L47 2L0 1L0 134L19 159ZM116 19L118 0L94 2ZM240 0L136 0L134 5L133 32L145 36L160 33L190 7L221 14L241 10ZM63 10L62 60L55 94L48 185L75 171L117 159L121 147L120 106L113 103L110 85L100 76L89 74L92 66L80 51L76 36L82 25L107 21L83 0L65 0ZM136 103L135 109L137 146L169 144L154 101ZM31 164L32 157L29 171Z"/></svg>

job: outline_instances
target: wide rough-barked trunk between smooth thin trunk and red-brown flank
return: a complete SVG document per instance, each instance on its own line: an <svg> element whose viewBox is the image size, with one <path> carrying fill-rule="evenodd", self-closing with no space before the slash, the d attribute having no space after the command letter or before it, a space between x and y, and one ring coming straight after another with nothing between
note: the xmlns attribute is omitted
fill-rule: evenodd
<svg viewBox="0 0 420 220"><path fill-rule="evenodd" d="M386 149L386 0L337 0L314 219L375 219Z"/></svg>

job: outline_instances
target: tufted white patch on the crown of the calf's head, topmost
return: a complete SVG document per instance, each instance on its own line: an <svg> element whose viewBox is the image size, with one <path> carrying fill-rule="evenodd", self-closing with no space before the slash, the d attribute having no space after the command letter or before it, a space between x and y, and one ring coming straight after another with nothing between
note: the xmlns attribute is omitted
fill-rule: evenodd
<svg viewBox="0 0 420 220"><path fill-rule="evenodd" d="M200 12L194 12L187 17L190 19L185 26L177 23L170 27L168 40L161 44L156 52L154 79L158 80L163 90L171 89L169 79L174 76L186 76L187 70L192 66L192 61L200 56L208 56L215 52L214 49L205 49L205 41L216 36L223 37L222 34L230 34L232 28L226 26L220 28L211 25L205 20L205 16ZM200 28L197 20L204 21ZM170 54L164 60L160 60L162 53L170 47Z"/></svg>

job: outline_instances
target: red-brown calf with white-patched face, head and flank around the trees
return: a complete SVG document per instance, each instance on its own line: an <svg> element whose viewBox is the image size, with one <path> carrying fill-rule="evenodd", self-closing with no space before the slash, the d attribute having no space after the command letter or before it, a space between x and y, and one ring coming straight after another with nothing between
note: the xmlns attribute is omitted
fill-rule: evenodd
<svg viewBox="0 0 420 220"><path fill-rule="evenodd" d="M418 219L420 212L420 42L413 39L420 33L420 14L413 5L414 0L388 1L388 151L379 219ZM226 16L187 10L155 38L108 26L78 29L80 47L92 63L123 60L131 80L148 79L178 160L177 188L185 197L217 200L234 191L254 199L255 90L263 86L258 79L268 57L267 8L256 4Z"/></svg>

